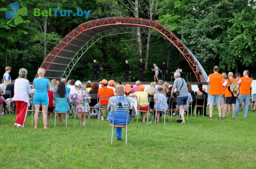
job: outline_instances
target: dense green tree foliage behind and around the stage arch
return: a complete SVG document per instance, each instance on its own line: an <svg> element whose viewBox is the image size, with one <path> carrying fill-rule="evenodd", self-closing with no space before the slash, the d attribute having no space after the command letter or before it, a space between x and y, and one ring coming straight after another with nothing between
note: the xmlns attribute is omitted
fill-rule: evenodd
<svg viewBox="0 0 256 169"><path fill-rule="evenodd" d="M92 0L92 1L37 1L20 0L20 7L28 8L28 16L23 23L6 24L5 11L11 10L13 1L0 0L0 75L5 66L11 66L12 78L18 76L21 67L28 69L31 81L44 60L44 56L76 26L98 18L128 16L134 17L130 10L132 0ZM155 19L174 32L195 54L207 73L214 65L220 65L221 72L240 72L248 69L256 73L256 3L254 0L162 0L154 1ZM149 18L148 1L139 0L140 18ZM46 33L45 18L34 17L33 9L58 7L75 11L77 7L91 10L85 17L48 17ZM132 8L131 8L132 9ZM174 71L180 66L191 71L178 50L158 33L152 31L148 70L145 81L152 81L153 63L160 65L168 62L168 70ZM44 37L46 40L44 40ZM143 58L146 55L147 31L142 33ZM46 46L44 50L44 46ZM102 70L100 77L124 80L124 60L129 60L131 76L137 77L138 44L136 34L116 35L99 40L73 69L70 78L83 81L91 79L92 60L97 59ZM113 63L118 63L113 66ZM77 69L78 68L78 69ZM79 71L79 73L77 73ZM121 72L121 73L120 73ZM167 79L168 80L168 79ZM170 79L169 79L170 80ZM194 77L190 79L194 81Z"/></svg>

